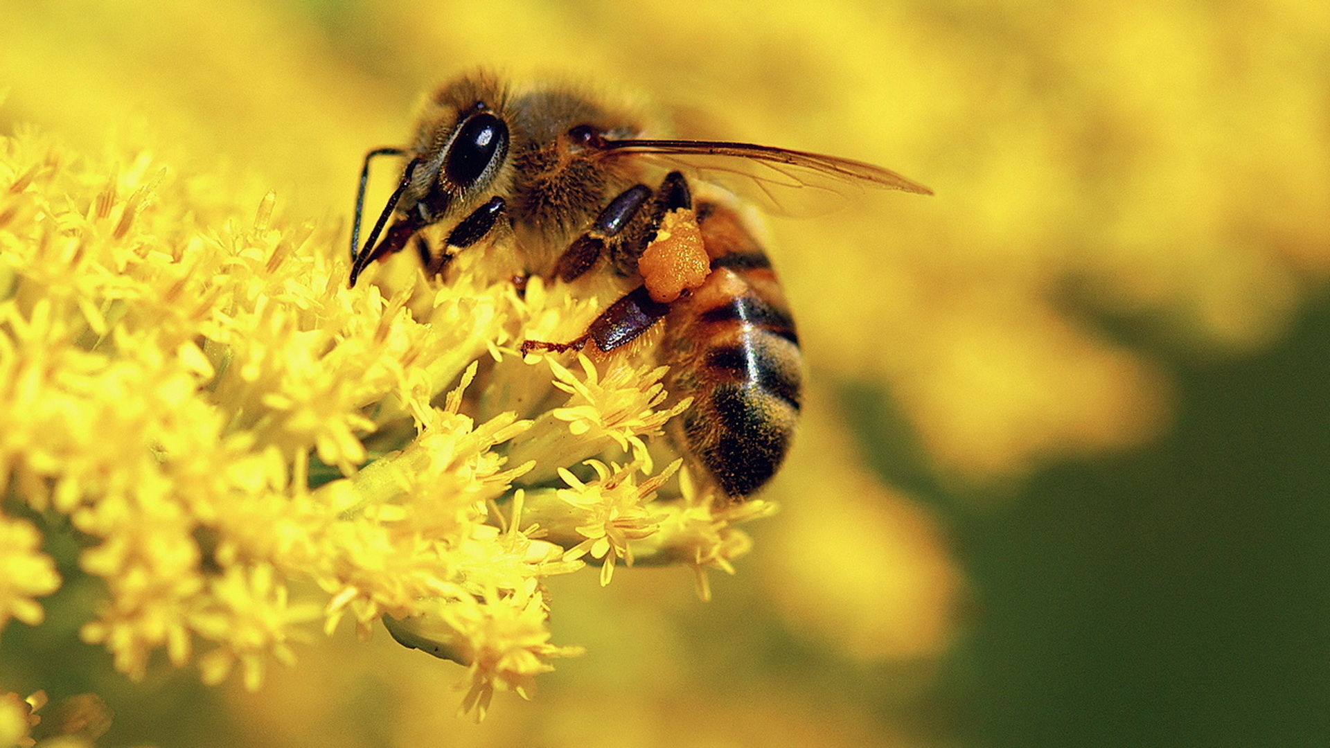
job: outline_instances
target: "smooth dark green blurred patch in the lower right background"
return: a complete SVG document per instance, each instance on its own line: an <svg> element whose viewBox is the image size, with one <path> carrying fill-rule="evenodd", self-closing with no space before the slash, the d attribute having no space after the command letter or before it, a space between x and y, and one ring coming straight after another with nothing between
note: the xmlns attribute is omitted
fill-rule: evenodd
<svg viewBox="0 0 1330 748"><path fill-rule="evenodd" d="M1330 301L1262 355L1156 359L1173 429L1000 508L868 433L876 467L938 502L972 584L939 709L966 744L1330 745Z"/></svg>

